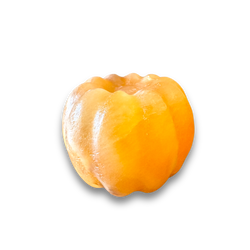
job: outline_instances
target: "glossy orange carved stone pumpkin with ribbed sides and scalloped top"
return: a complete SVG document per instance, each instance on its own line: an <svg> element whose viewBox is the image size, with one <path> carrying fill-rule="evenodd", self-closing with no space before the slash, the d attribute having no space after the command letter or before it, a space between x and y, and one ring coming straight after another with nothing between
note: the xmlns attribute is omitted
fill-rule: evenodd
<svg viewBox="0 0 250 250"><path fill-rule="evenodd" d="M185 91L168 75L93 75L69 94L62 135L90 186L123 197L158 190L182 167L194 140Z"/></svg>

